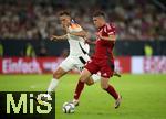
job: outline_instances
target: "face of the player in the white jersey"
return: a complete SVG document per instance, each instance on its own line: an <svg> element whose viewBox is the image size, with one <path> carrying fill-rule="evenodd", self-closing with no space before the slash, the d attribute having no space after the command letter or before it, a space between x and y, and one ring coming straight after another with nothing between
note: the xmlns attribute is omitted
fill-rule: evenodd
<svg viewBox="0 0 166 119"><path fill-rule="evenodd" d="M61 15L60 22L63 26L69 26L71 23L71 18L69 15Z"/></svg>

